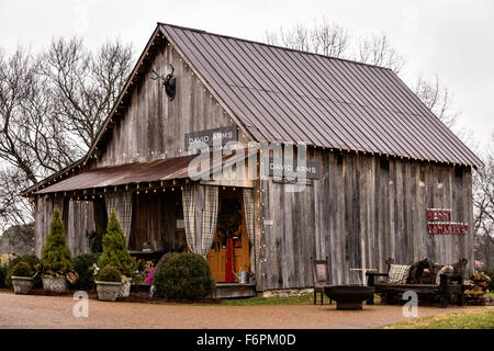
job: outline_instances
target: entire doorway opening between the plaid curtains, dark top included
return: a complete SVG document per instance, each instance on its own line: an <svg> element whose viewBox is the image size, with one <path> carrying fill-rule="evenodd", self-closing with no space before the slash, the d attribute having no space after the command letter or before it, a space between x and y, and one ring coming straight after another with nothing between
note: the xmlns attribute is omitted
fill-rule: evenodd
<svg viewBox="0 0 494 351"><path fill-rule="evenodd" d="M242 268L249 270L249 239L245 223L243 190L235 188L220 189L218 223L213 246L207 252L207 263L216 282L225 282L226 241L225 227L233 227L233 264L234 272L238 274ZM238 215L238 224L236 219ZM235 278L235 282L238 280Z"/></svg>

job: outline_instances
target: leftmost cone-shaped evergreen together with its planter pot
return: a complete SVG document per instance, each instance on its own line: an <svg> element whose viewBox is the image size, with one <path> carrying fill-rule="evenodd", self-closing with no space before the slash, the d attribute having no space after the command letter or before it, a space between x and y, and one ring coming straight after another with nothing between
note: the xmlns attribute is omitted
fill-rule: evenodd
<svg viewBox="0 0 494 351"><path fill-rule="evenodd" d="M64 223L57 207L53 214L46 245L43 247L38 273L42 275L43 288L57 293L67 290L67 280L75 283L78 278L72 268L71 253L66 245Z"/></svg>

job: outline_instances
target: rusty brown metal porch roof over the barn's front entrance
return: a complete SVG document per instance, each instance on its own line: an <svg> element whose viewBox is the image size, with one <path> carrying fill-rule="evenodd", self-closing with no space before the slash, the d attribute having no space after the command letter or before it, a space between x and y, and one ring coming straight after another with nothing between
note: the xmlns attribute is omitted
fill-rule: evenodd
<svg viewBox="0 0 494 351"><path fill-rule="evenodd" d="M96 168L59 181L50 186L44 188L35 194L186 179L190 178L190 166L197 157L201 157L199 160L203 160L203 156L190 155L153 162L126 163ZM201 162L197 162L194 163L197 167L194 171L200 174L205 172L210 172L211 174L217 169L217 167L225 163L235 162L239 158L245 157L247 156L235 156L235 152L232 152L232 155L220 156L216 159L213 158L213 154L211 154L209 167L202 169L203 165Z"/></svg>

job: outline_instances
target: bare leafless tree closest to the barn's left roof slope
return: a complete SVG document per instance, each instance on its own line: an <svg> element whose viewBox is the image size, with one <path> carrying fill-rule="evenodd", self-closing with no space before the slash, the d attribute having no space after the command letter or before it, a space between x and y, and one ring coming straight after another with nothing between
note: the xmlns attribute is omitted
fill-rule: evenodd
<svg viewBox="0 0 494 351"><path fill-rule="evenodd" d="M41 75L46 78L56 103L57 122L82 144L86 151L125 84L133 49L119 41L97 53L88 52L81 39L52 42L42 56Z"/></svg>

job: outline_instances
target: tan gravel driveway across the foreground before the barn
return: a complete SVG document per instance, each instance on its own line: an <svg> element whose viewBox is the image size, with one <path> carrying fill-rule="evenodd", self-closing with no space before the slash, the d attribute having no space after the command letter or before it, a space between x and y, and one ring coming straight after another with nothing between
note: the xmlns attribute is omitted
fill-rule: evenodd
<svg viewBox="0 0 494 351"><path fill-rule="evenodd" d="M335 305L194 306L89 299L89 316L76 318L67 296L0 294L0 328L373 328L405 319L400 306ZM482 307L419 307L419 317Z"/></svg>

